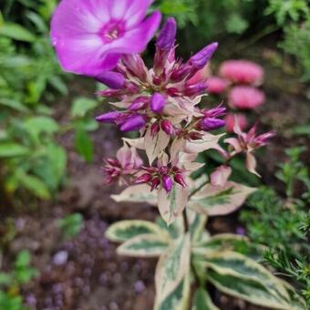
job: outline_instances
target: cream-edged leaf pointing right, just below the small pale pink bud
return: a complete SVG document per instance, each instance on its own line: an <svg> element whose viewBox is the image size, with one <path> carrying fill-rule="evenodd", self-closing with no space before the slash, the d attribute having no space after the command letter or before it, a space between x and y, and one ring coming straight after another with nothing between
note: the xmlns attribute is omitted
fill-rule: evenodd
<svg viewBox="0 0 310 310"><path fill-rule="evenodd" d="M253 191L256 189L233 181L228 181L223 187L207 184L192 195L189 206L210 216L225 215L240 208Z"/></svg>

